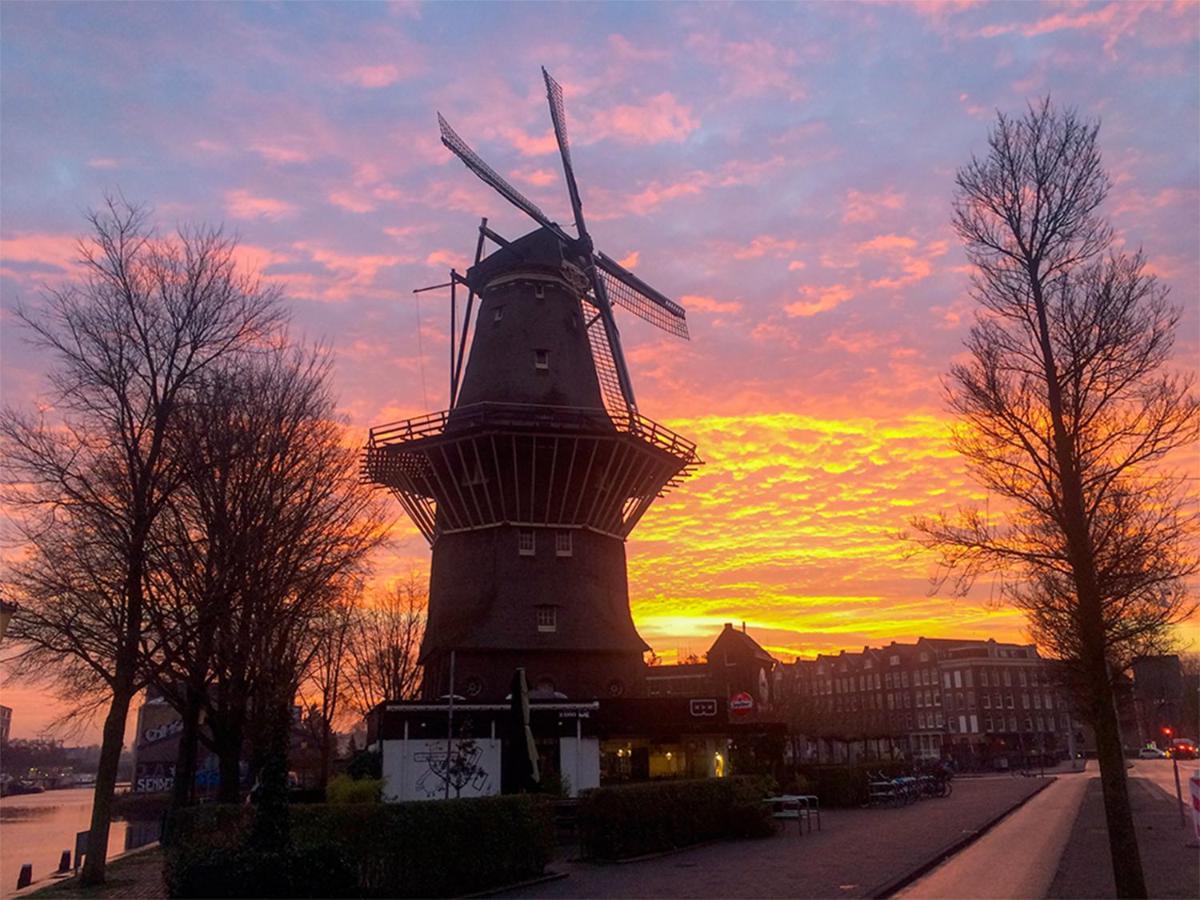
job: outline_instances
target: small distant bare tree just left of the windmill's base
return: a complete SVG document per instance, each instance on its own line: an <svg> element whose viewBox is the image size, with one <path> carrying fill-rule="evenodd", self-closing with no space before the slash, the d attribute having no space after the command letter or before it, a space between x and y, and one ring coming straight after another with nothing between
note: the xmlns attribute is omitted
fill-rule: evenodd
<svg viewBox="0 0 1200 900"><path fill-rule="evenodd" d="M390 592L354 611L346 648L347 690L355 712L366 715L385 700L416 696L421 668L416 658L425 634L427 593L409 574Z"/></svg>

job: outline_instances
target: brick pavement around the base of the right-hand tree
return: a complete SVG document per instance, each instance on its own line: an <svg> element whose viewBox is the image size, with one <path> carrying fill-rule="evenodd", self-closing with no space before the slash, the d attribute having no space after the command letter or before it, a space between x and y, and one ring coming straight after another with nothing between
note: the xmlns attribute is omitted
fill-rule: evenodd
<svg viewBox="0 0 1200 900"><path fill-rule="evenodd" d="M1188 846L1194 840L1192 826L1180 827L1175 797L1144 779L1130 778L1129 800L1150 895L1195 898L1200 893L1200 853ZM1049 895L1056 900L1117 895L1099 779L1087 786Z"/></svg>

